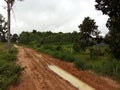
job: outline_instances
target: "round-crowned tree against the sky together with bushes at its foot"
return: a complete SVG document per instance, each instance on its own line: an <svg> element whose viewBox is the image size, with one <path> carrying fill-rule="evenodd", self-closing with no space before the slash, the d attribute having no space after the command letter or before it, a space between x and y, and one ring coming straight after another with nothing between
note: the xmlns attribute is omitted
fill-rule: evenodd
<svg viewBox="0 0 120 90"><path fill-rule="evenodd" d="M78 37L79 39L73 47L77 52L80 49L85 50L87 47L94 45L95 42L97 42L95 38L99 39L100 33L97 29L98 26L96 25L96 22L90 17L85 17L82 24L80 24L78 27L81 35ZM95 36L95 38L93 38L93 36Z"/></svg>

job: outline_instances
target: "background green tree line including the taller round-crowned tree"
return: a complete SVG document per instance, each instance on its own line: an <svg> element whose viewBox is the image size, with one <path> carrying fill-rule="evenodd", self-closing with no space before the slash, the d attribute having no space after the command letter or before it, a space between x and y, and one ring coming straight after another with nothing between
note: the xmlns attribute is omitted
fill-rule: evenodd
<svg viewBox="0 0 120 90"><path fill-rule="evenodd" d="M94 19L85 17L78 28L80 29L79 32L73 31L72 33L37 32L36 30L32 32L23 31L19 36L19 43L38 44L38 46L48 43L71 43L74 44L73 49L79 51L80 49L85 50L87 47L104 42Z"/></svg>

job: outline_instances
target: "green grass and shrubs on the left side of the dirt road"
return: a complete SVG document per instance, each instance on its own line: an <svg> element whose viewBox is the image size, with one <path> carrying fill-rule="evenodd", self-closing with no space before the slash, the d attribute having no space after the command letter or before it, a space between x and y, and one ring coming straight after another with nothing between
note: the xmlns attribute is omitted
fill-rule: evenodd
<svg viewBox="0 0 120 90"><path fill-rule="evenodd" d="M15 84L23 68L16 62L17 49L12 46L10 53L7 52L7 44L0 43L0 90L7 90L8 86Z"/></svg>

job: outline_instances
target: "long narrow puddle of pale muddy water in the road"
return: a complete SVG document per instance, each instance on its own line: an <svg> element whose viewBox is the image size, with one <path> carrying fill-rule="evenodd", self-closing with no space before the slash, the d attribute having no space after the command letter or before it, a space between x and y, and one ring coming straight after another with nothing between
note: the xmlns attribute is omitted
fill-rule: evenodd
<svg viewBox="0 0 120 90"><path fill-rule="evenodd" d="M78 88L78 90L95 90L91 86L87 85L83 81L77 79L73 75L69 74L68 72L64 71L63 69L59 68L55 65L48 66L53 72L55 72L58 76L62 77L63 79L70 82L74 87Z"/></svg>

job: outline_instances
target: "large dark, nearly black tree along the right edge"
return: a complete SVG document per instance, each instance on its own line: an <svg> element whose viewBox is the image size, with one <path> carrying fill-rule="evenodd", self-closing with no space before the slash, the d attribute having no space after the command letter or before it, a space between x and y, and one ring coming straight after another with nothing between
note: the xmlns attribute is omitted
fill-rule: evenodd
<svg viewBox="0 0 120 90"><path fill-rule="evenodd" d="M107 43L113 56L120 59L120 0L96 0L96 3L96 9L109 16Z"/></svg>

